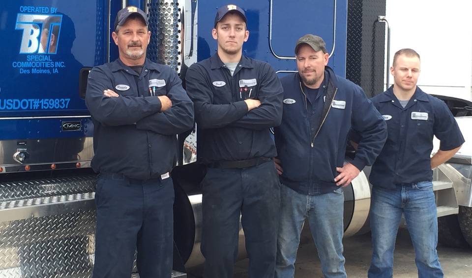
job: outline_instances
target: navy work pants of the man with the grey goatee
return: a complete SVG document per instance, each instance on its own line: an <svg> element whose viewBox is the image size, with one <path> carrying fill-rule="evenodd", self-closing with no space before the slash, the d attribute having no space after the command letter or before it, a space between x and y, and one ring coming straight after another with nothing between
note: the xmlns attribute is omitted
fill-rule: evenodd
<svg viewBox="0 0 472 278"><path fill-rule="evenodd" d="M141 278L170 278L173 261L172 178L135 180L101 174L95 191L93 278L130 278L134 254Z"/></svg>

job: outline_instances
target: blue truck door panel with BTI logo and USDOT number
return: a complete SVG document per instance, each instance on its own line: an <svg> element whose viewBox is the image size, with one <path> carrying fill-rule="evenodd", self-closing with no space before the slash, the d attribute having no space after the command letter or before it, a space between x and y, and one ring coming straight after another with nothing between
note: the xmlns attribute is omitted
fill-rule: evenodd
<svg viewBox="0 0 472 278"><path fill-rule="evenodd" d="M0 117L88 114L79 71L106 61L108 1L4 1Z"/></svg>

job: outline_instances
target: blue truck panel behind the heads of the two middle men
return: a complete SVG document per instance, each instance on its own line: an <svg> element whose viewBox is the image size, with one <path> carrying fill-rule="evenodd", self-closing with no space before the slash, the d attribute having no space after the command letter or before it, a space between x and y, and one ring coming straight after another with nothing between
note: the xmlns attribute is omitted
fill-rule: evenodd
<svg viewBox="0 0 472 278"><path fill-rule="evenodd" d="M328 51L335 46L329 66L338 75L345 76L347 0L239 0L232 3L243 8L248 19L249 39L243 45L245 55L269 62L276 71L296 70L295 60L279 59L270 50L269 27L272 24L272 47L278 56L294 56L295 42L302 35L320 35L326 41ZM221 0L198 2L198 60L216 51L211 29L221 4Z"/></svg>

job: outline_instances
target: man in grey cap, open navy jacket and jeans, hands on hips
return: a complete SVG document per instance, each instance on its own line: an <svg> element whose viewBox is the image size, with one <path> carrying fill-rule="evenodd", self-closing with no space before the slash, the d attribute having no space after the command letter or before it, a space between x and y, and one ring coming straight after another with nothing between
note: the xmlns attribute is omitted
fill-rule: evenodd
<svg viewBox="0 0 472 278"><path fill-rule="evenodd" d="M293 278L301 228L308 220L324 277L346 277L342 237L343 187L372 165L387 136L382 115L362 89L327 66L323 39L296 42L298 73L280 81L282 123L275 128L281 213L276 278ZM344 164L350 129L361 135L354 159Z"/></svg>

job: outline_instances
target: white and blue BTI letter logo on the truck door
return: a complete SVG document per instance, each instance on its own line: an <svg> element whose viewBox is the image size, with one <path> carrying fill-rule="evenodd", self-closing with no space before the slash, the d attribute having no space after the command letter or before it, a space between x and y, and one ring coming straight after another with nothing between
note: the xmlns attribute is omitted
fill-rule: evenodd
<svg viewBox="0 0 472 278"><path fill-rule="evenodd" d="M23 30L20 54L56 54L62 15L18 14L16 30Z"/></svg>

